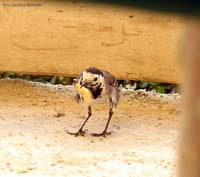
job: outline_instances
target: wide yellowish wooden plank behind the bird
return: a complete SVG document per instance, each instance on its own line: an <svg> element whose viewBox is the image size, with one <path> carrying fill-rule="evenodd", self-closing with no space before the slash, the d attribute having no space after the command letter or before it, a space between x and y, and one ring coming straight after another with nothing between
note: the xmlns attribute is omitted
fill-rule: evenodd
<svg viewBox="0 0 200 177"><path fill-rule="evenodd" d="M96 66L119 79L180 82L184 23L177 16L69 1L13 7L17 2L1 2L2 72L75 76Z"/></svg>

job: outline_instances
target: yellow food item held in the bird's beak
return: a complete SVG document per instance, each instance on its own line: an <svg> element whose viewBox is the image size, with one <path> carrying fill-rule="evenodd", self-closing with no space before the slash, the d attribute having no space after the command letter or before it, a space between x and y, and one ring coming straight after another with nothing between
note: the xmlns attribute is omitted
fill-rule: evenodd
<svg viewBox="0 0 200 177"><path fill-rule="evenodd" d="M79 84L75 84L75 88L82 95L84 103L90 105L92 103L92 93L89 91L89 89L81 87Z"/></svg>

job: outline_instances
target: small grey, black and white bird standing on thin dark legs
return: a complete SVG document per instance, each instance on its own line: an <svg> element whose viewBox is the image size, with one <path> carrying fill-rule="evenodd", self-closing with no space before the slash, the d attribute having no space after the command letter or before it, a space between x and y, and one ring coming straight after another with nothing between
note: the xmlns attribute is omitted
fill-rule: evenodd
<svg viewBox="0 0 200 177"><path fill-rule="evenodd" d="M77 101L83 103L87 107L88 116L83 122L82 126L76 133L67 132L70 135L84 136L87 130L83 130L85 124L92 115L91 105L96 101L102 99L109 103L109 116L102 133L93 133L93 136L107 136L112 132L108 132L108 126L113 115L113 109L117 106L120 98L120 89L116 78L110 74L108 71L100 70L95 67L90 67L84 70L80 76L76 79L76 84L80 85L80 88L86 88L91 95L91 101L85 100L86 97L82 92L77 93ZM88 104L85 104L87 101Z"/></svg>

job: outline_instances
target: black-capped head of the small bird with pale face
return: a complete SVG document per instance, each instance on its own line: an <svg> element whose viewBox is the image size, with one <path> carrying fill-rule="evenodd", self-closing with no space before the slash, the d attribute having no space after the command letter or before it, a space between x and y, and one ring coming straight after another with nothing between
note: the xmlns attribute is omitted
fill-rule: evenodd
<svg viewBox="0 0 200 177"><path fill-rule="evenodd" d="M97 68L88 68L83 71L81 86L86 88L95 88L104 84L104 77L101 70Z"/></svg>

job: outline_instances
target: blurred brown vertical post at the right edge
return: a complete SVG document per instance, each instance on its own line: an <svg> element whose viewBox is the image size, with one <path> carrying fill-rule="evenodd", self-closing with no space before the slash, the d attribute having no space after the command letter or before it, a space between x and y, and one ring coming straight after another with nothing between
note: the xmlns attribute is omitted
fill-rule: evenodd
<svg viewBox="0 0 200 177"><path fill-rule="evenodd" d="M200 21L193 21L184 41L184 124L180 177L200 177Z"/></svg>

